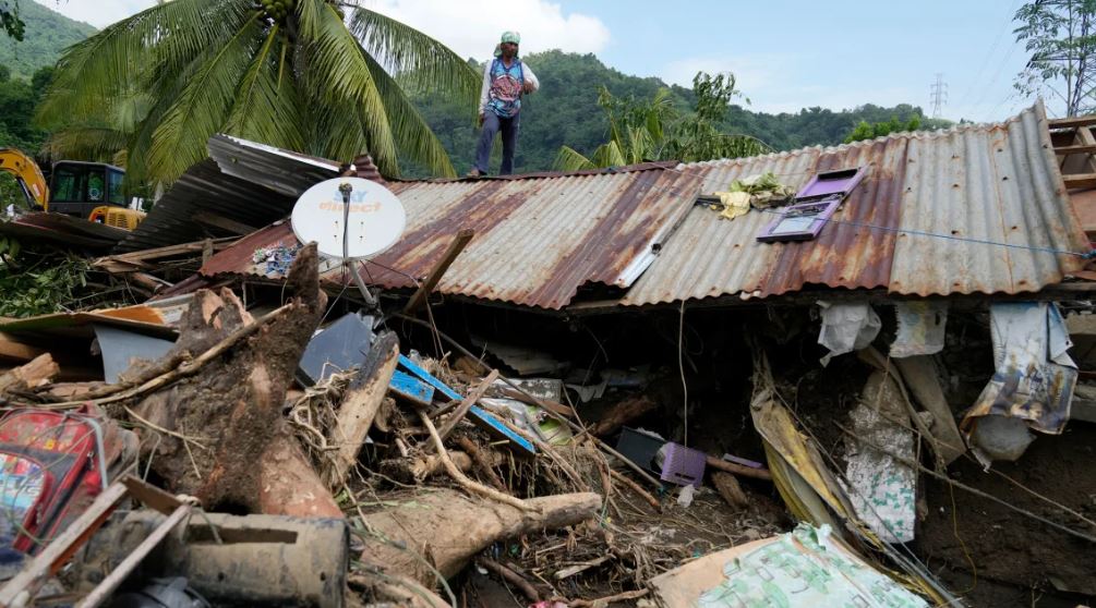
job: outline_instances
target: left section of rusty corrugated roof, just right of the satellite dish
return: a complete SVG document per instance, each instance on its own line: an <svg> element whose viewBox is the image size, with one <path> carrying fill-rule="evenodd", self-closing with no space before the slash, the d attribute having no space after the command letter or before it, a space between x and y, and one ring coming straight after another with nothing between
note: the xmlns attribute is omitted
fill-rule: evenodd
<svg viewBox="0 0 1096 608"><path fill-rule="evenodd" d="M586 284L629 287L699 192L696 179L661 168L392 190L408 228L366 263L366 280L410 287L407 275L424 276L452 237L470 228L476 236L437 290L546 309L568 305Z"/></svg>

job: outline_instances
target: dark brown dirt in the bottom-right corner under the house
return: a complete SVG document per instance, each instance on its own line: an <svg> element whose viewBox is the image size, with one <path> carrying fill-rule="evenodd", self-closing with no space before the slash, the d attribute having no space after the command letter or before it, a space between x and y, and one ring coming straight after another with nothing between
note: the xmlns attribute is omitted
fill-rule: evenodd
<svg viewBox="0 0 1096 608"><path fill-rule="evenodd" d="M1096 519L1094 459L1096 425L1074 422L1061 436L1040 435L1018 462L993 468ZM964 484L1096 536L1096 527L1063 514L1003 477L983 472L969 459L957 460L950 470ZM922 524L917 546L929 569L972 606L1072 607L1096 601L1096 547L1092 543L971 493L955 490L954 496L952 507L947 485L925 480L929 516ZM986 584L986 580L997 584ZM1055 583L1082 595L1063 594Z"/></svg>

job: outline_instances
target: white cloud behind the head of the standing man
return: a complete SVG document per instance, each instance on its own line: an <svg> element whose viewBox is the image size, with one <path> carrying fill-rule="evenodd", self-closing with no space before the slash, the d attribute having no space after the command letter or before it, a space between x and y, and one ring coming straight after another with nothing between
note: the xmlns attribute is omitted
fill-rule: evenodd
<svg viewBox="0 0 1096 608"><path fill-rule="evenodd" d="M600 53L609 43L609 30L596 16L563 13L544 0L372 0L367 9L386 14L423 32L461 57L483 60L509 30L522 34L522 53L559 48L571 53Z"/></svg>

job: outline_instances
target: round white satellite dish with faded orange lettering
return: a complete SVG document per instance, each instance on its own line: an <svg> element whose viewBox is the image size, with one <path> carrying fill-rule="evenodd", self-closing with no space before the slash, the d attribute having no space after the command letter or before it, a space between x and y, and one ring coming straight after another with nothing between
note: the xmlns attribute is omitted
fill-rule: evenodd
<svg viewBox="0 0 1096 608"><path fill-rule="evenodd" d="M340 186L349 184L350 220ZM305 191L293 207L293 232L302 243L316 241L321 255L343 259L369 257L392 246L403 233L407 214L395 194L377 182L362 177L324 180ZM349 228L349 230L345 230Z"/></svg>

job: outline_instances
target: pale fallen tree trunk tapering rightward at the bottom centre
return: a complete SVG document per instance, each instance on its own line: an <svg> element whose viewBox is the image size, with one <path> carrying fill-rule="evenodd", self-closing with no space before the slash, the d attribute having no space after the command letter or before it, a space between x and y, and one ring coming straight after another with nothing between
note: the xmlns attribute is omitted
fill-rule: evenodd
<svg viewBox="0 0 1096 608"><path fill-rule="evenodd" d="M596 517L602 497L584 492L526 498L537 511L520 511L499 502L469 497L455 490L434 490L406 503L366 515L370 534L362 561L386 574L402 575L433 588L427 560L449 577L489 544L574 526Z"/></svg>

